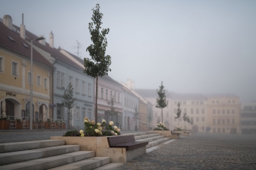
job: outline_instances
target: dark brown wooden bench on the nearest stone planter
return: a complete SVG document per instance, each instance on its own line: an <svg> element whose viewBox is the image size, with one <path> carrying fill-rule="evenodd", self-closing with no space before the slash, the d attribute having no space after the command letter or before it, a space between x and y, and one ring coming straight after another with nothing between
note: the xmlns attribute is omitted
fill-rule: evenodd
<svg viewBox="0 0 256 170"><path fill-rule="evenodd" d="M135 141L134 135L118 135L107 137L110 148L126 148L126 150L134 150L141 146L146 146L149 142Z"/></svg>

